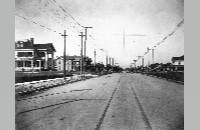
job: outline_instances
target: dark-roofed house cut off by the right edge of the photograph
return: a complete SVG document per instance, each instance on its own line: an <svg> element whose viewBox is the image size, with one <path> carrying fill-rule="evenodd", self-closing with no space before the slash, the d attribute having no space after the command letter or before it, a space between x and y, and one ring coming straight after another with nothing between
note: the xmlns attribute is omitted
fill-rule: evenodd
<svg viewBox="0 0 200 130"><path fill-rule="evenodd" d="M174 71L184 71L184 55L180 57L172 57Z"/></svg>

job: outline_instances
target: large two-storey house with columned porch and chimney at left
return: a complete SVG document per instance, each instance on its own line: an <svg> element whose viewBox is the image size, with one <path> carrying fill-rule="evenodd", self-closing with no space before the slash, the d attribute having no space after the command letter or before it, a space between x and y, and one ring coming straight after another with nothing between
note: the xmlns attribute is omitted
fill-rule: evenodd
<svg viewBox="0 0 200 130"><path fill-rule="evenodd" d="M15 70L30 71L54 68L52 43L34 44L34 39L15 42Z"/></svg>

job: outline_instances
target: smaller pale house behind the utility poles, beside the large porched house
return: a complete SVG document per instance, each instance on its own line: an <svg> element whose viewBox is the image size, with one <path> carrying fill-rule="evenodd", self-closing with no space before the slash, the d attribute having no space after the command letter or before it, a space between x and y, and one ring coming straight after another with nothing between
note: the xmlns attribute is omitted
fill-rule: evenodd
<svg viewBox="0 0 200 130"><path fill-rule="evenodd" d="M63 71L64 62L63 56L56 59L56 67L58 71ZM81 56L66 56L66 70L67 71L79 71L80 70Z"/></svg>

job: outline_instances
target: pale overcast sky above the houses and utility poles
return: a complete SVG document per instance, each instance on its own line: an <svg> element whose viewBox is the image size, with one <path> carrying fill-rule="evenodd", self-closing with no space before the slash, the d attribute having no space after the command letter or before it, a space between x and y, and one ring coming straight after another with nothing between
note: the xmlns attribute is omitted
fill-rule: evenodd
<svg viewBox="0 0 200 130"><path fill-rule="evenodd" d="M36 44L53 43L56 56L61 56L64 40L59 33L66 30L67 54L80 55L78 35L84 30L78 24L91 26L87 56L93 59L96 49L97 62L105 63L106 52L100 50L104 49L123 66L130 66L147 47L157 45L184 19L183 0L16 0L15 3L15 41L34 38ZM184 55L184 24L154 49L158 63ZM144 58L147 64L148 55Z"/></svg>

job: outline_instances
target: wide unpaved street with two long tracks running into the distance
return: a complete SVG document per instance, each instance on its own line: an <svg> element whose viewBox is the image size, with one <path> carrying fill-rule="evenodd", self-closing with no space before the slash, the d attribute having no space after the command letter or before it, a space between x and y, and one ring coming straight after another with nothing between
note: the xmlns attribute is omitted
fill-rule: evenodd
<svg viewBox="0 0 200 130"><path fill-rule="evenodd" d="M183 130L184 86L114 73L16 99L17 130Z"/></svg>

